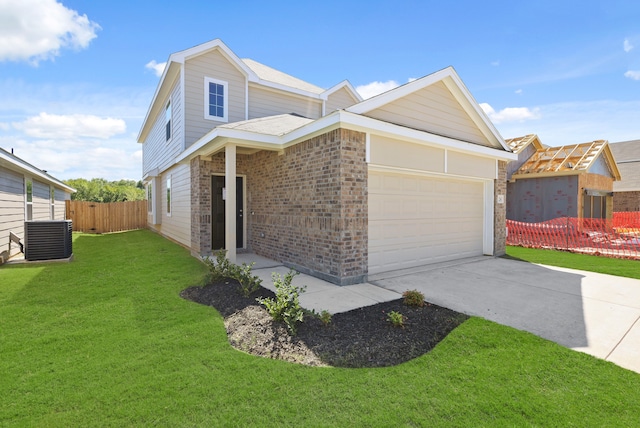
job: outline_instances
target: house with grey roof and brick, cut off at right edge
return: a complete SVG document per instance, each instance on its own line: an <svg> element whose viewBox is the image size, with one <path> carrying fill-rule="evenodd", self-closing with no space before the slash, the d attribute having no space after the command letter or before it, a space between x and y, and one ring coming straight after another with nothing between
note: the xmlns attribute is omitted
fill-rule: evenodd
<svg viewBox="0 0 640 428"><path fill-rule="evenodd" d="M640 140L610 147L622 174L622 180L613 183L613 210L640 211Z"/></svg>

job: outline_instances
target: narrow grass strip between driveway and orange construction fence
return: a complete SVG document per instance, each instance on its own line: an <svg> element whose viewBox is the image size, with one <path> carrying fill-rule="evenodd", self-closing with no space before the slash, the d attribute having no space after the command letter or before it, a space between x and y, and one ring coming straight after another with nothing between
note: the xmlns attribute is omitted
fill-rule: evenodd
<svg viewBox="0 0 640 428"><path fill-rule="evenodd" d="M640 279L640 261L576 254L568 251L541 250L507 246L507 257L529 263L587 270Z"/></svg>

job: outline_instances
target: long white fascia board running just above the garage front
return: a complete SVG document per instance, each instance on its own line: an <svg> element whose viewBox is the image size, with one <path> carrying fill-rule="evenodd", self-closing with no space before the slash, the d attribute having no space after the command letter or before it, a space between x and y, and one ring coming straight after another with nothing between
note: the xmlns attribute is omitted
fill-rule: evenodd
<svg viewBox="0 0 640 428"><path fill-rule="evenodd" d="M357 128L356 130L362 132L371 132L394 139L404 139L417 144L469 153L477 156L488 157L491 159L499 159L504 161L512 161L518 159L518 156L511 151L503 151L497 148L481 146L479 144L468 143L466 141L460 141L449 137L443 137L441 135L431 134L430 132L407 128L404 126L395 125L389 122L384 122L378 119L361 116L359 114L349 113L346 111L334 112L331 115L327 116L327 118L332 117L336 113L340 117L340 124L350 125L349 128L355 127ZM313 125L316 122L313 122L310 125Z"/></svg>

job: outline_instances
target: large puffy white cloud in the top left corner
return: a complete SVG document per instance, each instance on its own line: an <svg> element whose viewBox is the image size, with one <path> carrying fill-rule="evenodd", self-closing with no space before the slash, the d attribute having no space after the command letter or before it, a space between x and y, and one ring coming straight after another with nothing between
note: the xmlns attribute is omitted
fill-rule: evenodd
<svg viewBox="0 0 640 428"><path fill-rule="evenodd" d="M0 61L34 65L62 48L85 49L100 26L55 0L0 1Z"/></svg>

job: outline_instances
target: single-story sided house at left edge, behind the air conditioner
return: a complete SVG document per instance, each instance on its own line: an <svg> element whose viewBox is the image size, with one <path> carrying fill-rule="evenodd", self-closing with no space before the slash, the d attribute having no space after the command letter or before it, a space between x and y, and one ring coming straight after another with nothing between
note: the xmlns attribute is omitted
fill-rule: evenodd
<svg viewBox="0 0 640 428"><path fill-rule="evenodd" d="M25 220L64 220L65 201L75 189L46 171L0 149L0 255L6 261L20 252L13 233L24 240Z"/></svg>

